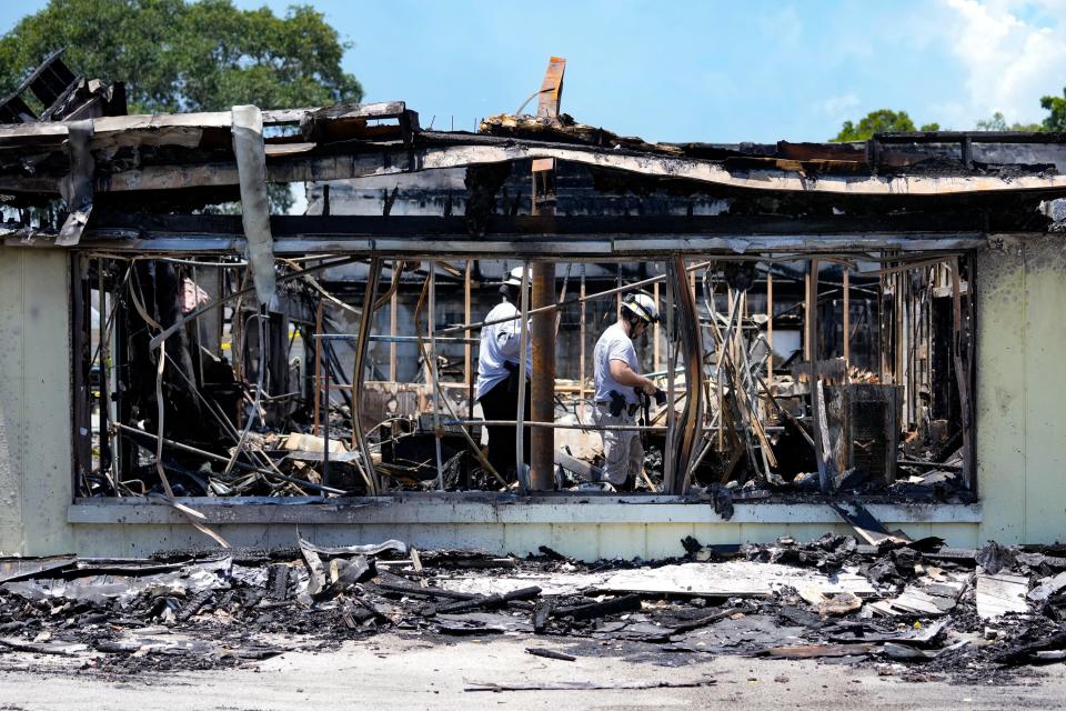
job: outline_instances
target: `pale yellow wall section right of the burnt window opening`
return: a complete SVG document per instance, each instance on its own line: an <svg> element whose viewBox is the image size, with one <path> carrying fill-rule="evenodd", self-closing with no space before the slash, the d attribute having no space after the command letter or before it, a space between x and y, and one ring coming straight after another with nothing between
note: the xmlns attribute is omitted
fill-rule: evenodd
<svg viewBox="0 0 1066 711"><path fill-rule="evenodd" d="M1066 540L1066 236L977 258L982 540Z"/></svg>

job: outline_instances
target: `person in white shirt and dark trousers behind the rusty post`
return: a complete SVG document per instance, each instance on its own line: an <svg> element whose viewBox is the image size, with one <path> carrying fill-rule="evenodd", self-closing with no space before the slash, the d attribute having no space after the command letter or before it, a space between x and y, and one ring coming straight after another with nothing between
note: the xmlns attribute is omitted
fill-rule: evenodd
<svg viewBox="0 0 1066 711"><path fill-rule="evenodd" d="M529 337L529 323L522 323L521 311L515 306L521 297L522 267L515 267L507 274L500 293L503 300L497 303L481 329L481 348L477 352L477 382L474 387L475 399L486 420L516 420L519 415L519 350L522 342L522 329L526 330L525 372L532 369L532 339ZM529 280L526 280L529 283ZM517 318L514 318L517 317ZM492 321L501 321L492 323ZM524 383L525 401L530 402L530 381ZM489 433L489 463L507 481L517 479L517 453L515 452L515 425L486 425ZM530 463L530 428L523 428L523 461Z"/></svg>

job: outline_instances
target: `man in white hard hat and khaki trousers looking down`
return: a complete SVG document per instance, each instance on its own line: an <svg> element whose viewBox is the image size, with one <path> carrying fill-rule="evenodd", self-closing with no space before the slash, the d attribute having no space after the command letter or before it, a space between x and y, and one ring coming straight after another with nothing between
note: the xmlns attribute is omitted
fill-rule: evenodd
<svg viewBox="0 0 1066 711"><path fill-rule="evenodd" d="M633 341L658 321L655 300L646 293L630 293L622 301L619 320L596 342L595 408L593 422L605 425L633 425L640 407L638 392L654 395L655 383L641 374ZM632 487L644 465L644 447L636 430L601 429L603 438L603 481L615 488Z"/></svg>

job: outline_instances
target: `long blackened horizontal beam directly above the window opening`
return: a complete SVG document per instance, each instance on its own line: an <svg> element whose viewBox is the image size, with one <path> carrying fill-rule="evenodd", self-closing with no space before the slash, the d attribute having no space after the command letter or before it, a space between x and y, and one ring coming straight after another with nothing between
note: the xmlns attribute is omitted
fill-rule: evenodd
<svg viewBox="0 0 1066 711"><path fill-rule="evenodd" d="M385 258L652 259L673 253L757 257L767 253L863 253L979 249L986 233L923 231L913 216L782 220L776 218L493 217L472 237L462 218L273 217L276 254L346 253ZM49 246L48 238L12 234L9 244ZM109 252L243 251L239 216L94 213L81 249Z"/></svg>

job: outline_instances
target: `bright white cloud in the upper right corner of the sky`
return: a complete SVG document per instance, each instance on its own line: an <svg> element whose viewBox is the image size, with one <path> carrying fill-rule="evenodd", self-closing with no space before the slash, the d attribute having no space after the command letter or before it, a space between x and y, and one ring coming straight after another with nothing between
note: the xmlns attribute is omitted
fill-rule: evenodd
<svg viewBox="0 0 1066 711"><path fill-rule="evenodd" d="M956 128L996 111L1007 121L1038 121L1039 100L1066 86L1066 0L941 0L943 26L966 72L967 96L944 106Z"/></svg>

